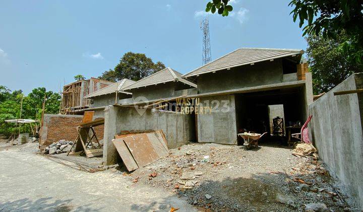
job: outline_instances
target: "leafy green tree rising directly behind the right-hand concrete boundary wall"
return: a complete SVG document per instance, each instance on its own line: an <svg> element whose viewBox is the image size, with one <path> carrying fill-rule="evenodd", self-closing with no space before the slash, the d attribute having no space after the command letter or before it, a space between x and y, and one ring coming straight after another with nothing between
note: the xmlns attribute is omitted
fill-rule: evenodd
<svg viewBox="0 0 363 212"><path fill-rule="evenodd" d="M313 75L314 94L327 92L349 75L359 72L359 65L348 60L348 55L338 50L341 42L347 39L345 34L338 36L337 40L323 36L310 35L307 56L309 69Z"/></svg>

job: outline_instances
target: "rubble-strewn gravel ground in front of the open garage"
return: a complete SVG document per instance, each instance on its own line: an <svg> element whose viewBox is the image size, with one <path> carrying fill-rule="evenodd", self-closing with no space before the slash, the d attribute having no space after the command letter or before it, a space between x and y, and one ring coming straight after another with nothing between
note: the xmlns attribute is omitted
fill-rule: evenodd
<svg viewBox="0 0 363 212"><path fill-rule="evenodd" d="M245 150L198 143L170 149L170 156L133 173L116 170L135 184L175 192L201 210L304 211L309 203L324 203L331 211L356 210L321 161L291 152L282 146ZM203 174L181 180L188 172ZM194 186L184 188L184 183Z"/></svg>

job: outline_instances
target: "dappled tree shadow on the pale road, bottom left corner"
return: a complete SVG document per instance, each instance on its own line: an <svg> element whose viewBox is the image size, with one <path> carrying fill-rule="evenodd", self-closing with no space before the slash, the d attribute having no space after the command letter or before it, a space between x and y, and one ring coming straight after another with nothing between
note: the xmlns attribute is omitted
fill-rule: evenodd
<svg viewBox="0 0 363 212"><path fill-rule="evenodd" d="M74 207L71 204L71 201L71 199L57 199L55 201L52 201L52 197L44 197L37 200L24 198L15 201L1 202L0 211L98 211L98 209L91 209L87 206Z"/></svg>

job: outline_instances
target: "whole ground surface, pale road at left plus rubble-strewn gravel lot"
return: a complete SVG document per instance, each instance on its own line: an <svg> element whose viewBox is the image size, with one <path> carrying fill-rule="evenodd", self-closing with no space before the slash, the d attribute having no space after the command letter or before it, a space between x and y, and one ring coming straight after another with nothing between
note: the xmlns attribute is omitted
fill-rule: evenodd
<svg viewBox="0 0 363 212"><path fill-rule="evenodd" d="M191 211L192 208L200 211L305 211L309 203L324 203L330 211L357 210L344 187L329 175L320 160L312 156L294 156L292 148L280 145L261 145L246 150L244 146L194 143L170 149L169 156L131 173L123 165L102 168L101 157L67 157L66 153L51 158L40 155L34 143L7 149L0 151L7 169L7 172L0 172L5 177L1 180L3 185L20 186L17 189L21 193L25 192L22 191L24 187L31 187L28 189L32 196L38 197L46 197L46 190L52 188L52 198L56 200L52 206L62 206L57 203L62 202L58 199L64 199L66 195L68 199L74 197L66 202L71 205L70 210L82 210L86 206L76 201L74 194L67 194L67 185L75 183L78 183L75 188L79 189L76 193L82 198L89 198L89 195L91 199L97 198L94 196L96 189L97 196L105 199L105 195L110 199L102 203L103 209L99 203L93 205L88 201L91 206L87 205L87 208L97 206L97 210L170 211L174 206L180 208L178 211ZM37 179L32 180L34 183L41 180L46 185L45 190L33 188L22 183L24 181L6 180L12 173L13 177L17 176L18 169L14 166L19 167L24 162L21 169L25 172L24 177ZM27 163L32 164L27 167ZM79 169L82 166L86 169ZM194 179L180 179L186 173L191 173L189 177ZM54 179L59 180L53 182ZM93 190L84 190L84 185L92 185ZM0 198L0 210L2 207L16 209L17 201L9 201L7 196L19 198L21 195L7 188L4 191L6 196L3 200ZM149 194L145 196L145 193ZM36 202L33 207L41 208Z"/></svg>

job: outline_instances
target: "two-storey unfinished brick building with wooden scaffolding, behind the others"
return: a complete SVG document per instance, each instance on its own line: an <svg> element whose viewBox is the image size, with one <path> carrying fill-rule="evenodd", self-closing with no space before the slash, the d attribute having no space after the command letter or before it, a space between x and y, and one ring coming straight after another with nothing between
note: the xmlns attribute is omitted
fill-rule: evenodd
<svg viewBox="0 0 363 212"><path fill-rule="evenodd" d="M113 82L91 78L65 85L62 92L61 114L83 114L84 110L89 108L89 101L85 96L111 84Z"/></svg>

